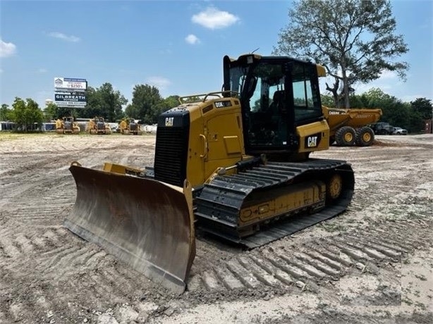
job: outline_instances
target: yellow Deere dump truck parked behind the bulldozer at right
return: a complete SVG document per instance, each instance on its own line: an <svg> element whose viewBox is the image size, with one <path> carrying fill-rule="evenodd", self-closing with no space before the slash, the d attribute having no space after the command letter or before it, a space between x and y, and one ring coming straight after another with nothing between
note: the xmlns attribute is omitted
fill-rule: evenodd
<svg viewBox="0 0 433 324"><path fill-rule="evenodd" d="M374 142L374 131L368 125L380 119L382 109L322 106L322 111L329 125L329 144L369 147Z"/></svg>

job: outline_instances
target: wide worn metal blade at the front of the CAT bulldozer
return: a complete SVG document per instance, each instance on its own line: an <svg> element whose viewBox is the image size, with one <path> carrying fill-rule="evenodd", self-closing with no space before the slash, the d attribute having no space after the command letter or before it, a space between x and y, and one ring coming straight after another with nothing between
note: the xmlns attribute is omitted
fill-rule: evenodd
<svg viewBox="0 0 433 324"><path fill-rule="evenodd" d="M195 257L192 195L163 182L69 168L77 198L63 225L171 291L181 294Z"/></svg>

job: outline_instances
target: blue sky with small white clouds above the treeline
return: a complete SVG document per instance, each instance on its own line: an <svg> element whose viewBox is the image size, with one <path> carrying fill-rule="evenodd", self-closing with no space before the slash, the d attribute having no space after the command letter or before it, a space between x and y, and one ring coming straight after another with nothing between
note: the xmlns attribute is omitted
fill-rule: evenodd
<svg viewBox="0 0 433 324"><path fill-rule="evenodd" d="M217 91L222 58L259 48L269 55L291 1L0 0L0 104L15 96L44 106L54 77L110 82L127 99L137 84L162 96ZM411 101L433 99L433 0L394 0L397 32L410 51L406 82L395 73L371 87ZM322 93L324 93L322 87Z"/></svg>

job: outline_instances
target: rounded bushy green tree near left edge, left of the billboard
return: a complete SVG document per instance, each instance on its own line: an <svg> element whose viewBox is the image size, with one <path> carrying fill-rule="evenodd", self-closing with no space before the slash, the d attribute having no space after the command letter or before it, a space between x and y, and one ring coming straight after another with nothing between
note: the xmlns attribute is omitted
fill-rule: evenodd
<svg viewBox="0 0 433 324"><path fill-rule="evenodd" d="M36 101L33 99L27 99L26 101L16 97L13 101L10 114L11 121L16 123L16 126L25 132L31 130L32 125L35 123L41 124L44 119L44 114Z"/></svg>

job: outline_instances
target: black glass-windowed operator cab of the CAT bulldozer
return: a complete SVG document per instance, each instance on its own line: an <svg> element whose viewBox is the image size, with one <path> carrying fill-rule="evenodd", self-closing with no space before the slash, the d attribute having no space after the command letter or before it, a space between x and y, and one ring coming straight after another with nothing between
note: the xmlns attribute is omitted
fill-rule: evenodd
<svg viewBox="0 0 433 324"><path fill-rule="evenodd" d="M296 127L323 120L318 70L284 56L224 57L224 90L239 93L248 154L298 150Z"/></svg>

